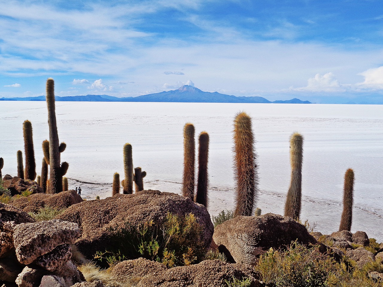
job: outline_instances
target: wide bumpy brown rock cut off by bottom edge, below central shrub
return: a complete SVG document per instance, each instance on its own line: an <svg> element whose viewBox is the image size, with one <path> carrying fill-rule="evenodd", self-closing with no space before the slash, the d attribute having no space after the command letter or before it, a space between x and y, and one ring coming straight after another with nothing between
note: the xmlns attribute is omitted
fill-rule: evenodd
<svg viewBox="0 0 383 287"><path fill-rule="evenodd" d="M226 286L226 281L249 278L249 287L262 286L259 275L248 264L226 263L219 260L206 260L199 264L174 267L159 272L158 275L144 277L137 287L179 287L179 286Z"/></svg>

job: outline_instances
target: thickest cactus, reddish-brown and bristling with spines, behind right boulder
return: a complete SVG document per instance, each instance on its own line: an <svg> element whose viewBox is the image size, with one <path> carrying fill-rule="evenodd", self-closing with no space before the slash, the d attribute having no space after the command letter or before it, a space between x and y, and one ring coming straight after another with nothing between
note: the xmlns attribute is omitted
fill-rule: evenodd
<svg viewBox="0 0 383 287"><path fill-rule="evenodd" d="M234 153L237 189L234 215L251 216L258 199L258 173L251 118L244 112L234 119Z"/></svg>

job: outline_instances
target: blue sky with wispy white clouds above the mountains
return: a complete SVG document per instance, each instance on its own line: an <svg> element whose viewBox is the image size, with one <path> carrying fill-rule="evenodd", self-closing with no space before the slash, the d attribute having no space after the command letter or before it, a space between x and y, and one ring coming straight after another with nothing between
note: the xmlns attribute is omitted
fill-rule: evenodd
<svg viewBox="0 0 383 287"><path fill-rule="evenodd" d="M381 0L0 0L0 98L192 85L383 104Z"/></svg>

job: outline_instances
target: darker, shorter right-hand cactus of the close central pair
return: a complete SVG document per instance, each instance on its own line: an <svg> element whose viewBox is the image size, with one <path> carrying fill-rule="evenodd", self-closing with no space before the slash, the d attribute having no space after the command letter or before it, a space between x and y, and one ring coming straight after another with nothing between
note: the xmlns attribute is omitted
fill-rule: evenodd
<svg viewBox="0 0 383 287"><path fill-rule="evenodd" d="M201 132L198 138L198 181L195 201L208 207L208 156L209 156L209 134Z"/></svg>

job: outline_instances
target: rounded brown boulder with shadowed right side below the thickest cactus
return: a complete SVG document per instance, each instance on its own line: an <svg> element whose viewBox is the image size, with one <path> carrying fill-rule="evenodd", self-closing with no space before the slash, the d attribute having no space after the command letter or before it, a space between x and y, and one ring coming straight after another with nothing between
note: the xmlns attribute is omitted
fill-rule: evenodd
<svg viewBox="0 0 383 287"><path fill-rule="evenodd" d="M306 227L272 213L234 217L216 226L213 240L230 261L251 265L270 248L279 249L295 240L305 245L317 243Z"/></svg>

